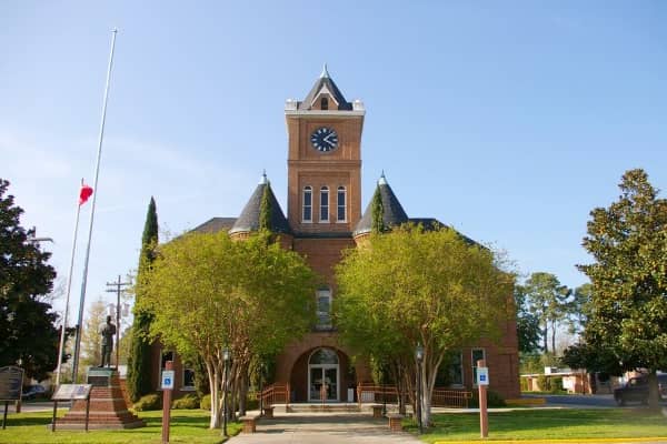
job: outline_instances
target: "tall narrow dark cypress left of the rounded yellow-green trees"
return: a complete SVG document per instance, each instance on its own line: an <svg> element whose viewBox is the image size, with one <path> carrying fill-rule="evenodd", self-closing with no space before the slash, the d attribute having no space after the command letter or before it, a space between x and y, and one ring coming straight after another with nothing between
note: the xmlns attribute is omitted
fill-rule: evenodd
<svg viewBox="0 0 667 444"><path fill-rule="evenodd" d="M146 214L146 224L143 225L143 235L141 238L141 253L139 255L139 270L137 281L146 273L153 260L155 249L158 244L158 213L156 211L156 201L151 196ZM135 302L141 299L141 290L138 286ZM135 323L132 325L132 345L128 359L128 392L132 402L152 391L150 384L150 340L148 333L152 314L145 310L135 310Z"/></svg>

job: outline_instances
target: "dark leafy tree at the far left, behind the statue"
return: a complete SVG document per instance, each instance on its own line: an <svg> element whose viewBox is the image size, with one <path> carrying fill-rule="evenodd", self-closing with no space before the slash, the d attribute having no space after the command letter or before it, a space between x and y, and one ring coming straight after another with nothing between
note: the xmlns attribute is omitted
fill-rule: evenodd
<svg viewBox="0 0 667 444"><path fill-rule="evenodd" d="M0 365L20 363L27 377L41 381L58 363L57 315L46 302L56 271L47 263L51 253L31 241L34 229L21 226L23 210L8 189L0 179Z"/></svg>

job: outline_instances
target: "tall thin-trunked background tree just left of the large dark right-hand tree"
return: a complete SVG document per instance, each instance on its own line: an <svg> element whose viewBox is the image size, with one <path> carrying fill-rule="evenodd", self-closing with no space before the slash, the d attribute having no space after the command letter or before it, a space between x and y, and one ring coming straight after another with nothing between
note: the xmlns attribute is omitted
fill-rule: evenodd
<svg viewBox="0 0 667 444"><path fill-rule="evenodd" d="M556 352L556 332L560 322L569 314L568 301L570 290L561 285L551 273L532 273L524 283L529 312L538 320L541 329L542 350L545 353ZM551 349L549 349L551 332Z"/></svg>

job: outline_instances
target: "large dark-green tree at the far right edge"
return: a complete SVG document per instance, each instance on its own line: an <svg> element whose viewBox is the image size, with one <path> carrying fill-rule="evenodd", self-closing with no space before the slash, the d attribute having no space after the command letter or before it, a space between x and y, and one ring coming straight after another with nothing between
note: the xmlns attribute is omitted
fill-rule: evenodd
<svg viewBox="0 0 667 444"><path fill-rule="evenodd" d="M578 265L593 283L588 346L608 350L624 369L646 369L649 404L658 407L656 371L667 369L667 200L644 170L623 175L620 195L590 212Z"/></svg>

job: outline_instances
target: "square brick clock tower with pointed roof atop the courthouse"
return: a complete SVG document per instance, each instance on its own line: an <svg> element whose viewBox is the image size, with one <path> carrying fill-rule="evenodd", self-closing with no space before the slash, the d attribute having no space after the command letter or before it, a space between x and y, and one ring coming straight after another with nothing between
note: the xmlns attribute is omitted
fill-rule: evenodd
<svg viewBox="0 0 667 444"><path fill-rule="evenodd" d="M297 238L349 236L361 218L364 115L326 65L303 101L287 101L287 219Z"/></svg>

